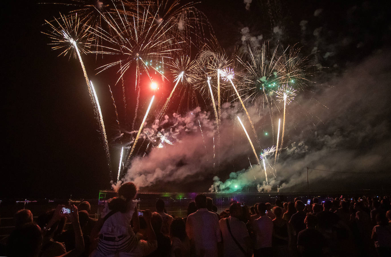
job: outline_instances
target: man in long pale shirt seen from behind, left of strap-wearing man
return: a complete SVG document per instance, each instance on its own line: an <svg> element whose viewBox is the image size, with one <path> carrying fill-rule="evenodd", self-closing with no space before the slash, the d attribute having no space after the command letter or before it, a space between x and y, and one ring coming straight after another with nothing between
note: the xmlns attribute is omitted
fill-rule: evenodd
<svg viewBox="0 0 391 257"><path fill-rule="evenodd" d="M197 257L217 257L218 246L221 242L219 221L214 212L206 209L206 195L195 197L197 212L187 216L186 233L191 240Z"/></svg>

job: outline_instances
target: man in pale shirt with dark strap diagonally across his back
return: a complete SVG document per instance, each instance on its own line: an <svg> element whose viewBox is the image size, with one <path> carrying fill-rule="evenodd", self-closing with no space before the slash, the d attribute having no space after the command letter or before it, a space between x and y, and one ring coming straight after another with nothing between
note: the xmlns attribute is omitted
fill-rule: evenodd
<svg viewBox="0 0 391 257"><path fill-rule="evenodd" d="M241 216L242 206L239 203L233 203L230 206L230 217L219 221L224 243L224 257L246 257L251 255L252 242L246 224L239 220ZM230 225L229 228L227 222Z"/></svg>

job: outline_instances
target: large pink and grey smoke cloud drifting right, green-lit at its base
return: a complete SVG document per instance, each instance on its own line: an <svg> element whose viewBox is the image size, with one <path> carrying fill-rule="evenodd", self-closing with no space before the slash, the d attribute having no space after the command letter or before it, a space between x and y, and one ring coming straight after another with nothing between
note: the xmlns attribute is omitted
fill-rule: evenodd
<svg viewBox="0 0 391 257"><path fill-rule="evenodd" d="M155 121L152 130L160 129L174 145L152 148L144 157L134 157L122 181L133 181L141 188L194 182L203 185L205 191L214 192L296 191L307 187L307 167L353 172L389 170L390 58L390 52L375 54L327 84L314 84L311 90L298 92L287 106L280 157L275 165L274 155L267 159L269 185L265 183L263 167L256 164L248 140L235 119L240 116L256 145L247 116L243 116L238 103L222 105L219 140L213 111L197 107L185 116L174 113ZM248 103L260 136L260 146L256 146L260 154L260 149L271 147L276 138L263 136L265 132L273 134L267 107L265 115L257 114L256 109ZM274 124L278 118L282 115L275 110ZM276 134L274 131L274 137ZM379 186L387 176L312 170L309 177L311 190L337 190L341 186Z"/></svg>

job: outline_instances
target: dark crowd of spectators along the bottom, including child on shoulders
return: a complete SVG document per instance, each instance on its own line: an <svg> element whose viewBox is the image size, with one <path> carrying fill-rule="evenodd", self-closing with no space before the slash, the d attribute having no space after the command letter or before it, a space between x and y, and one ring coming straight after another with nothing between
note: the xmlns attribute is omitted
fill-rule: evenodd
<svg viewBox="0 0 391 257"><path fill-rule="evenodd" d="M156 212L137 210L135 195L133 183L123 184L99 219L90 217L88 202L59 205L36 223L20 210L0 256L391 256L389 196L315 197L307 205L300 198L254 206L232 201L218 214L213 200L199 194L187 217L174 218L161 199Z"/></svg>

